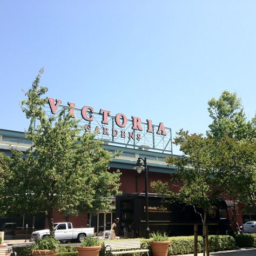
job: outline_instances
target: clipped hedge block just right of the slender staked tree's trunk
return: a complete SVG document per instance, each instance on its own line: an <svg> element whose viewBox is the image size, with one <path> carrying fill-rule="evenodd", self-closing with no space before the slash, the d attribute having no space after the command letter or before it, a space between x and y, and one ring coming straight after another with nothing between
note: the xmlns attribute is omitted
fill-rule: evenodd
<svg viewBox="0 0 256 256"><path fill-rule="evenodd" d="M210 235L209 236L210 251L225 251L235 248L235 239L230 235Z"/></svg>

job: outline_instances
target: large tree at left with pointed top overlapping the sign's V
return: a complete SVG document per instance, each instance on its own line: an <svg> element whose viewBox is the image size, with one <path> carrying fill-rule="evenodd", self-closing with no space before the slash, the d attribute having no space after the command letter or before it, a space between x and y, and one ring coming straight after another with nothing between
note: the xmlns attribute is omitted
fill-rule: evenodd
<svg viewBox="0 0 256 256"><path fill-rule="evenodd" d="M92 208L97 197L108 202L105 196L118 192L120 173L107 171L112 154L102 148L103 142L94 134L83 132L68 108L48 116L47 99L42 97L48 89L39 86L42 73L43 69L21 102L30 119L26 138L33 144L19 170L22 173L16 192L26 199L27 211L46 212L53 233L54 210L75 215L81 205Z"/></svg>

